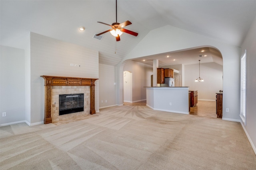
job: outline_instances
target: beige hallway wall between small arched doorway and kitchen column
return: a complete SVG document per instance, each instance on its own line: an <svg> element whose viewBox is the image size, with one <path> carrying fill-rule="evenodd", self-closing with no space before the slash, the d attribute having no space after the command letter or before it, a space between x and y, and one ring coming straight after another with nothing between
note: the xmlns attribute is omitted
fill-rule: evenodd
<svg viewBox="0 0 256 170"><path fill-rule="evenodd" d="M153 74L152 66L135 61L126 61L123 70L132 72L131 102L146 100L146 88L144 87L150 86L151 75Z"/></svg>

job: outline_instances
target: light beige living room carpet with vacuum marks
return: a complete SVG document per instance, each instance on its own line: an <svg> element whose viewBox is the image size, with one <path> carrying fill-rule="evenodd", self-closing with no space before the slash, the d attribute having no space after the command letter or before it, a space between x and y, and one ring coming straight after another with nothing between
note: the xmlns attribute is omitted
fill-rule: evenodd
<svg viewBox="0 0 256 170"><path fill-rule="evenodd" d="M154 111L101 109L63 125L0 127L0 168L54 170L256 170L238 122Z"/></svg>

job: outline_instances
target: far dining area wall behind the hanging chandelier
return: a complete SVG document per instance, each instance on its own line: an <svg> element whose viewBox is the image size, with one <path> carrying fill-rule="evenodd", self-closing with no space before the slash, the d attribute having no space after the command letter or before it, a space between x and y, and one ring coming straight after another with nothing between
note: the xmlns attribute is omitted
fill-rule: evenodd
<svg viewBox="0 0 256 170"><path fill-rule="evenodd" d="M200 63L200 77L204 82L195 82L199 76L199 64L185 65L185 86L189 90L198 90L198 100L215 101L216 92L223 88L222 65Z"/></svg>

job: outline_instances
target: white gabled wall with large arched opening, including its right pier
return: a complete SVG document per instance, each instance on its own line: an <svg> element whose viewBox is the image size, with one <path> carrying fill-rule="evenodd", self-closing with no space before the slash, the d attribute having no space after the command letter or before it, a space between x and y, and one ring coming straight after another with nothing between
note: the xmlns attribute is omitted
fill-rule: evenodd
<svg viewBox="0 0 256 170"><path fill-rule="evenodd" d="M123 61L170 51L196 49L199 47L213 47L218 49L222 54L224 78L223 108L229 108L228 113L223 112L222 119L240 121L240 85L237 83L240 81L238 68L240 66L241 49L239 47L166 25L150 31Z"/></svg>

